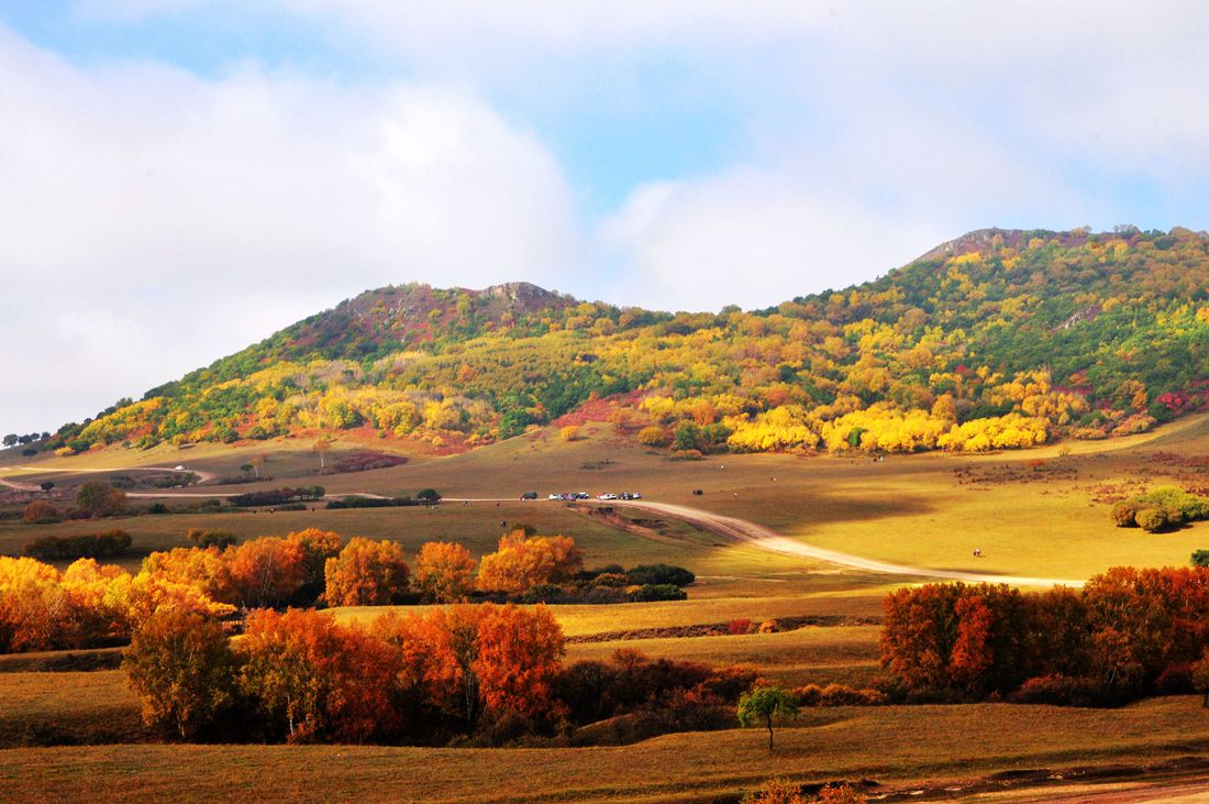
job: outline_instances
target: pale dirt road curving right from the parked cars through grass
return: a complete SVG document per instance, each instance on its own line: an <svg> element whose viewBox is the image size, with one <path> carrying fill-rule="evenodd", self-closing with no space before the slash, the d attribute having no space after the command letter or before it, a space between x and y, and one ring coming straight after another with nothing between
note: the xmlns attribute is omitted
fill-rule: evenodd
<svg viewBox="0 0 1209 804"><path fill-rule="evenodd" d="M829 563L837 567L849 567L851 569L863 569L866 572L878 572L889 575L912 575L915 578L964 580L976 584L1011 584L1013 586L1083 585L1082 580L1070 580L1063 578L1029 578L1024 575L995 575L977 572L958 572L953 569L929 569L926 567L908 567L899 563L862 559L861 556L848 555L846 553L838 553L835 550L828 550L826 548L818 548L812 544L806 544L805 542L787 538L776 531L767 528L763 525L757 525L756 522L735 519L734 516L723 516L722 514L713 514L698 508L689 508L688 505L671 505L669 503L650 503L647 501L617 501L611 504L650 511L652 514L661 514L664 516L689 522L690 525L695 525L696 527L710 531L711 533L717 533L734 542L748 544L760 550L798 556L802 559L811 559L814 561L822 561L823 563Z"/></svg>

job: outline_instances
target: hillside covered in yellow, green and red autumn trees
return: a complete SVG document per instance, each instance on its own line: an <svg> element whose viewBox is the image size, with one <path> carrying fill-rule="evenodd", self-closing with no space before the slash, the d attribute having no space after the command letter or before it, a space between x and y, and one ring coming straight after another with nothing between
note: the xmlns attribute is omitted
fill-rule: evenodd
<svg viewBox="0 0 1209 804"><path fill-rule="evenodd" d="M1209 236L980 230L752 312L371 290L36 446L366 429L447 451L608 420L678 451L984 451L1145 430L1207 387Z"/></svg>

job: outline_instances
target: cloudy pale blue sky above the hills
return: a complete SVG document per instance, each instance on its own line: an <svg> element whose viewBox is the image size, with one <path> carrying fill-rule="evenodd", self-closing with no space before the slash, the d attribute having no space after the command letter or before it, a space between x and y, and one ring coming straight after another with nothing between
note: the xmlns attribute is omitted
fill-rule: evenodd
<svg viewBox="0 0 1209 804"><path fill-rule="evenodd" d="M1207 227L1209 5L0 0L0 433L361 290L775 305Z"/></svg>

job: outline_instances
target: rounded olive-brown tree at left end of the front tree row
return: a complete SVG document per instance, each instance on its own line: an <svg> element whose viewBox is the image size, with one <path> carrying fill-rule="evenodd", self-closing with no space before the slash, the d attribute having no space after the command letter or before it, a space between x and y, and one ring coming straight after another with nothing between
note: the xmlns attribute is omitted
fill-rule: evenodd
<svg viewBox="0 0 1209 804"><path fill-rule="evenodd" d="M198 612L161 608L139 625L122 660L143 699L147 725L196 735L232 702L236 660L221 624Z"/></svg>

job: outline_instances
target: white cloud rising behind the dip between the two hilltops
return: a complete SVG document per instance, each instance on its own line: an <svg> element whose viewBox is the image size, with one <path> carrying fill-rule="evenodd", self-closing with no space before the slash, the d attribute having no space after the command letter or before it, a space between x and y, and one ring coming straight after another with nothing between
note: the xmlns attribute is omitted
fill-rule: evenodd
<svg viewBox="0 0 1209 804"><path fill-rule="evenodd" d="M626 266L618 300L690 311L843 288L939 239L935 229L748 168L641 187L600 237Z"/></svg>

